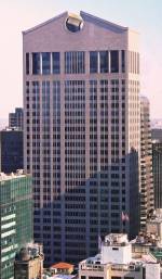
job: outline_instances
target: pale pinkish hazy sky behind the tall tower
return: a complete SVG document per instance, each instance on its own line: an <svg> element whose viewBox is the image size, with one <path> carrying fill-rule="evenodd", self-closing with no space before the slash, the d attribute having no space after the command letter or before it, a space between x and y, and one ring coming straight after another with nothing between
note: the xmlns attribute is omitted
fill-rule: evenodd
<svg viewBox="0 0 162 279"><path fill-rule="evenodd" d="M141 93L162 118L161 0L0 0L0 118L23 105L22 30L64 11L80 10L140 34Z"/></svg>

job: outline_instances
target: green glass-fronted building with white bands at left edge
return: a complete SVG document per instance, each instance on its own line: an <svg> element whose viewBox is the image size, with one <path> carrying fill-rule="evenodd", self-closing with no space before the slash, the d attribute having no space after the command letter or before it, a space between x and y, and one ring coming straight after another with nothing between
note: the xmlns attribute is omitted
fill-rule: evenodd
<svg viewBox="0 0 162 279"><path fill-rule="evenodd" d="M0 174L0 278L14 277L16 252L32 240L31 177Z"/></svg>

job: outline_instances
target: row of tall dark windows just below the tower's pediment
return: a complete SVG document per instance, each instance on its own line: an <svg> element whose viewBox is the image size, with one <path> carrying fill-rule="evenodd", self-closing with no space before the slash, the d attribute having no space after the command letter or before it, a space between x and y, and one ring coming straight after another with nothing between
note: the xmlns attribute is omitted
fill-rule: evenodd
<svg viewBox="0 0 162 279"><path fill-rule="evenodd" d="M135 56L136 58L136 56ZM65 74L85 74L85 52L68 51L64 53ZM135 60L136 61L136 60ZM131 63L134 63L134 60ZM132 68L132 66L131 66ZM125 73L125 51L90 51L91 74L97 73ZM135 71L136 73L137 71ZM26 74L50 75L60 74L59 52L26 53Z"/></svg>

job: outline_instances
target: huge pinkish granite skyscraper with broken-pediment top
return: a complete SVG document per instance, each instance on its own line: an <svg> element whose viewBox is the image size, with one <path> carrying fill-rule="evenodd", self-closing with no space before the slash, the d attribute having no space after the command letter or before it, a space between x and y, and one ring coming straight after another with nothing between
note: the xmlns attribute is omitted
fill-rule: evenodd
<svg viewBox="0 0 162 279"><path fill-rule="evenodd" d="M99 236L138 231L138 35L65 12L23 40L35 238L46 263L75 263L97 252Z"/></svg>

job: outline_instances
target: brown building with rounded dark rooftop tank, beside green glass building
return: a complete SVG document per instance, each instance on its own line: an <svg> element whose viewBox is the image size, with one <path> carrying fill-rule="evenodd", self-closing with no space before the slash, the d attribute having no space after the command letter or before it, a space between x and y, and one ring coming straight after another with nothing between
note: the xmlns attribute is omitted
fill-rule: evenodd
<svg viewBox="0 0 162 279"><path fill-rule="evenodd" d="M43 253L39 244L28 244L16 254L15 279L43 279Z"/></svg>

